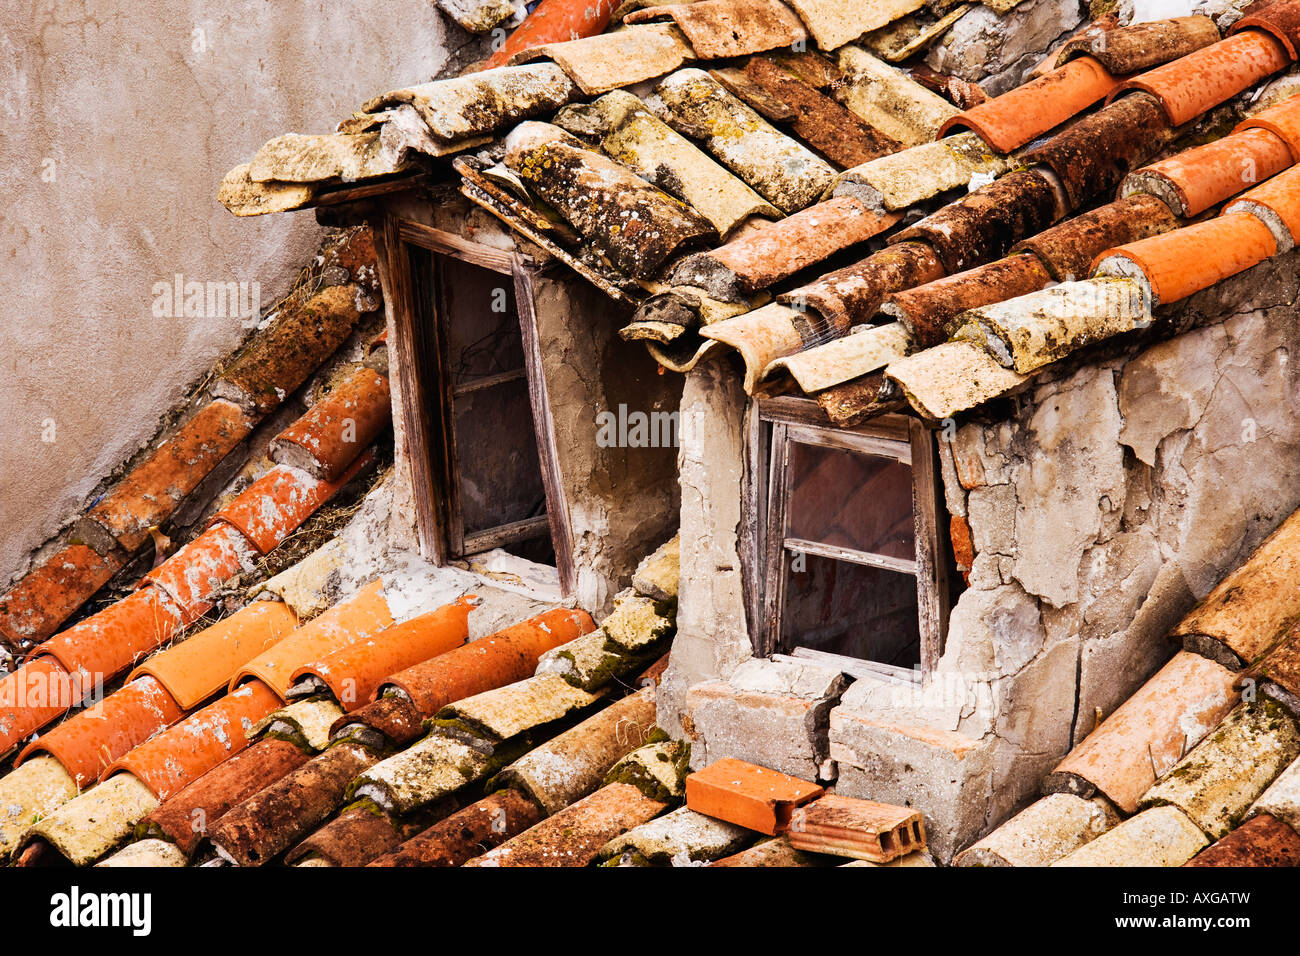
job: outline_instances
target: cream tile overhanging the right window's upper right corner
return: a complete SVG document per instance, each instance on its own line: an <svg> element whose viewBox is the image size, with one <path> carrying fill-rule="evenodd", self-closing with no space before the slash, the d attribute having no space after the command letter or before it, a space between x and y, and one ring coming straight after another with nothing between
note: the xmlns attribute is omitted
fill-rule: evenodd
<svg viewBox="0 0 1300 956"><path fill-rule="evenodd" d="M898 359L885 368L885 376L930 421L975 408L1027 381L971 342L944 342Z"/></svg>

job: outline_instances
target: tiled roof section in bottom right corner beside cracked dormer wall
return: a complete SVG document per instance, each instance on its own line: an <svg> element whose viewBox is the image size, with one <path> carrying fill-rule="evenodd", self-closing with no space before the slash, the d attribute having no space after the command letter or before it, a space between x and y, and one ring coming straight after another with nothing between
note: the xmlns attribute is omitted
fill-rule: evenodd
<svg viewBox="0 0 1300 956"><path fill-rule="evenodd" d="M1300 865L1300 512L1170 637L1180 650L967 866Z"/></svg>

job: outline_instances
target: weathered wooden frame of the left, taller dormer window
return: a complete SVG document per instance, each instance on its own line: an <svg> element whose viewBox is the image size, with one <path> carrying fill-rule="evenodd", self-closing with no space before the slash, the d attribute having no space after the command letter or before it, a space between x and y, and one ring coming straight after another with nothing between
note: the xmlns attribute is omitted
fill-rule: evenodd
<svg viewBox="0 0 1300 956"><path fill-rule="evenodd" d="M545 522L550 528L555 549L560 591L566 597L572 596L577 587L573 531L560 479L555 424L551 418L541 338L537 332L536 263L517 250L485 246L400 216L385 217L384 239L396 339L391 346L396 359L399 412L410 458L420 553L434 563L445 566L463 554L478 554L532 537L538 529L538 523ZM545 518L537 516L476 535L464 535L464 528L460 525L460 506L456 501L458 483L452 479L456 455L451 428L451 399L467 390L482 388L484 382L472 382L462 389L451 385L451 377L442 367L441 324L437 320L421 323L421 304L411 265L413 250L425 250L511 277L524 345L524 376L528 380L533 432L546 494ZM517 372L507 377L517 377Z"/></svg>

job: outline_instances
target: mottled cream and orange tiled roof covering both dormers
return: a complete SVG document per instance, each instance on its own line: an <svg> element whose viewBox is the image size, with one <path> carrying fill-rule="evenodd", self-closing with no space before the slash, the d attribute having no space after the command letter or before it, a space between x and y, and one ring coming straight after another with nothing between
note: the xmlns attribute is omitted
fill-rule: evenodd
<svg viewBox="0 0 1300 956"><path fill-rule="evenodd" d="M1226 36L1208 17L1098 25L965 111L862 46L911 4L636 7L274 139L222 202L255 215L459 174L636 306L623 334L663 365L731 347L748 389L800 389L838 424L904 403L945 419L1097 341L1160 334L1153 310L1300 228L1300 101L1170 153L1294 62L1297 0Z"/></svg>

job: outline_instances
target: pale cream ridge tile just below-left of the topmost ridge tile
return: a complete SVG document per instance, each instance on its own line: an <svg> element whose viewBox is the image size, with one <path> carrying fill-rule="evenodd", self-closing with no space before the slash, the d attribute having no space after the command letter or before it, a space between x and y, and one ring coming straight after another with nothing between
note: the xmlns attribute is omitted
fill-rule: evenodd
<svg viewBox="0 0 1300 956"><path fill-rule="evenodd" d="M530 47L512 64L554 60L586 96L672 73L694 53L672 23L645 23L563 43Z"/></svg>

